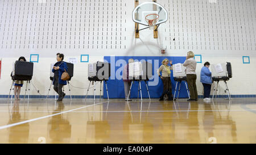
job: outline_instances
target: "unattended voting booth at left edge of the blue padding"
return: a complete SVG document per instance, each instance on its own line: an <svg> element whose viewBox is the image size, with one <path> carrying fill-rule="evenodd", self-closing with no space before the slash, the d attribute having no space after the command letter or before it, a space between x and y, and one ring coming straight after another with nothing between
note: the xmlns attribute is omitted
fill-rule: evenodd
<svg viewBox="0 0 256 155"><path fill-rule="evenodd" d="M106 81L108 81L110 77L110 64L108 62L102 62L102 61L97 61L91 64L88 64L88 80L90 81L87 93L85 96L85 100L87 98L89 89L90 89L90 84L94 85L94 101L95 101L95 93L96 93L96 81L105 81L105 86L106 86L106 93L108 95L108 100L109 100L109 93L108 93L108 86ZM100 87L100 98L101 98L101 87Z"/></svg>

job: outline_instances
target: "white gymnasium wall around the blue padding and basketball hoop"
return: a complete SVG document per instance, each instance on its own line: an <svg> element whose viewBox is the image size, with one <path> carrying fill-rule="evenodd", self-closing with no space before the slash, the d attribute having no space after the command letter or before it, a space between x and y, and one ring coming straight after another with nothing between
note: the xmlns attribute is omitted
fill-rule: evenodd
<svg viewBox="0 0 256 155"><path fill-rule="evenodd" d="M146 2L139 0L139 3ZM0 95L9 94L12 63L19 56L34 63L32 83L47 95L50 64L56 53L77 58L72 85L88 87L88 63L104 56L185 56L193 51L197 64L197 86L205 61L211 64L232 62L233 78L228 82L233 95L256 94L256 1L254 0L158 0L168 12L168 21L158 29L158 39L150 30L140 31L135 39L130 0L1 0ZM143 28L143 26L140 26ZM162 55L160 50L167 53ZM88 62L80 62L89 55ZM243 61L243 56L250 58ZM201 57L201 58L200 58ZM31 94L39 95L31 85ZM65 89L67 90L67 88ZM71 87L72 95L85 95L86 89ZM24 88L22 93L24 93ZM51 90L50 95L55 93ZM93 95L93 91L89 91ZM100 86L97 85L97 94ZM221 83L220 94L224 94ZM68 94L69 95L69 94Z"/></svg>

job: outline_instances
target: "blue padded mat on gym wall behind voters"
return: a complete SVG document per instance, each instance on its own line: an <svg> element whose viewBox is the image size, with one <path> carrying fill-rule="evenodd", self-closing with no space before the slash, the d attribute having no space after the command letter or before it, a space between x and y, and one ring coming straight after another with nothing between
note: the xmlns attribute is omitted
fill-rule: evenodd
<svg viewBox="0 0 256 155"><path fill-rule="evenodd" d="M114 58L114 64L112 64L110 66L111 68L111 74L112 76L115 76L115 74L121 74L121 77L116 77L115 79L109 79L108 81L108 90L109 90L109 98L125 98L125 90L124 90L124 86L123 86L123 80L122 80L122 70L124 68L124 66L126 64L128 64L129 59L133 58L133 60L135 62L141 61L141 60L145 60L148 63L148 68L152 67L152 75L153 76L148 76L149 81L147 82L148 84L148 90L150 93L150 97L151 98L159 98L160 95L162 95L163 93L163 82L160 79L160 77L157 74L157 70L159 69L160 65L162 65L162 61L164 60L164 58L168 58L168 60L172 60L172 64L177 64L177 63L181 63L183 64L183 62L186 60L186 57L147 57L147 56L115 56ZM104 60L110 62L110 56L105 56ZM124 66L121 65L117 65L118 63L116 63L118 60L125 60L126 64ZM158 61L158 63L155 62L155 60ZM141 62L142 64L142 68L143 68L143 62ZM156 66L155 66L156 65ZM139 64L137 64L137 66L139 66ZM144 73L144 69L142 69ZM148 69L150 70L150 69ZM148 72L148 75L150 75L150 73ZM157 78L157 79L155 79ZM174 81L174 76L173 76L173 72L171 71L171 82L172 82L172 93L174 94L175 91L175 81ZM131 98L137 98L138 97L138 86L139 86L139 82L134 82L133 83L133 87L131 88ZM142 87L142 97L143 98L148 98L148 94L147 94L147 89L146 89L146 84L145 82L141 83L141 87ZM107 94L106 94L106 88L104 85L104 98L107 98ZM187 94L187 90L185 87L185 83L184 81L181 82L181 86L180 86L180 95L179 98L187 98L188 94Z"/></svg>

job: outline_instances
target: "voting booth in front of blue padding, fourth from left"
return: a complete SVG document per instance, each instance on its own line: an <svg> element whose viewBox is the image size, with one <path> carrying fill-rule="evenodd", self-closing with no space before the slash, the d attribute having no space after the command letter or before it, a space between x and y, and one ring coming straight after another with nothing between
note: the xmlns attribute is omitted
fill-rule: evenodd
<svg viewBox="0 0 256 155"><path fill-rule="evenodd" d="M141 88L141 81L144 81L146 83L147 88L147 94L148 98L150 99L150 93L148 91L147 81L152 77L152 64L147 61L143 62L132 62L129 63L129 79L131 79L131 87L133 86L133 83L135 81L139 82L138 87L138 98L139 98L139 92L141 93L141 101L142 99L142 88ZM128 98L130 97L131 93L131 87L129 90Z"/></svg>

